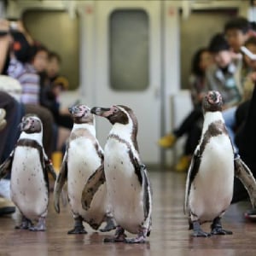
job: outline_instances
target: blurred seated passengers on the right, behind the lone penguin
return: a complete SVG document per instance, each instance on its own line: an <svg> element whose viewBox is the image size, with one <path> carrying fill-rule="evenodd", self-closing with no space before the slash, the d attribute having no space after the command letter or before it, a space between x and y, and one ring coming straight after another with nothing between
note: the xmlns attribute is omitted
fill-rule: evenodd
<svg viewBox="0 0 256 256"><path fill-rule="evenodd" d="M239 119L236 119L236 112L238 106L252 96L253 65L256 63L247 55L241 55L241 46L255 52L255 39L253 24L246 18L237 17L224 25L223 32L213 35L207 47L195 52L189 77L194 108L179 127L159 140L160 147L172 148L179 137L188 135L183 156L176 166L177 171L188 169L191 155L201 136L201 100L207 90L218 90L222 94L225 124L238 151L235 136L245 113L240 112Z"/></svg>

